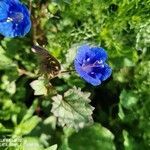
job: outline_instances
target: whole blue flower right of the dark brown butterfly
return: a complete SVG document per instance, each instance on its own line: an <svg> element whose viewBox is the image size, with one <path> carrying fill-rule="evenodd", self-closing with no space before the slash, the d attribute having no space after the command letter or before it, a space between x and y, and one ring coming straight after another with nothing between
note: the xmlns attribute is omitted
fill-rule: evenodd
<svg viewBox="0 0 150 150"><path fill-rule="evenodd" d="M97 86L110 77L112 70L106 64L107 53L101 47L79 47L74 66L77 73L88 83Z"/></svg>

